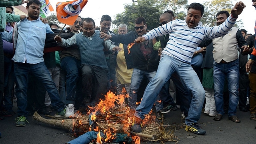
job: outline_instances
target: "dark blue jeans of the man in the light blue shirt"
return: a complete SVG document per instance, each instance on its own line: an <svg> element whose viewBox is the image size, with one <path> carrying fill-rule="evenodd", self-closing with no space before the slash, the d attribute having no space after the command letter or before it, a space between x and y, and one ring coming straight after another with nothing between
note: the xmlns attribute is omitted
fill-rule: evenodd
<svg viewBox="0 0 256 144"><path fill-rule="evenodd" d="M18 116L28 116L28 111L26 107L28 104L27 100L27 89L28 89L28 75L33 74L40 80L46 91L48 92L52 106L60 112L64 109L64 104L60 101L60 96L49 70L46 68L44 62L38 64L26 64L14 62L14 74L16 76L16 96L17 96L17 106L18 106Z"/></svg>

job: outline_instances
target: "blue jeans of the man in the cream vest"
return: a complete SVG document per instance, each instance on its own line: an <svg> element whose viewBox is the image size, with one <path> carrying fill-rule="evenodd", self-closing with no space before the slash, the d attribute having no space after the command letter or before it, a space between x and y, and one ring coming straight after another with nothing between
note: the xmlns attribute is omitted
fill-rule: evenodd
<svg viewBox="0 0 256 144"><path fill-rule="evenodd" d="M236 106L239 101L239 61L238 59L228 63L213 63L213 82L214 82L214 99L216 111L218 114L224 115L223 110L223 88L225 78L228 81L229 91L229 107L228 116L236 115Z"/></svg>

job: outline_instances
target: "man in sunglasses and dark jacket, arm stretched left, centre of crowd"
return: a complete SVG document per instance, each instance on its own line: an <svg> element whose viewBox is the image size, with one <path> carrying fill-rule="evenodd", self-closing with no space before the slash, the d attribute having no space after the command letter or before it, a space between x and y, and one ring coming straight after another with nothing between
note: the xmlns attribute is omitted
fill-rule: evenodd
<svg viewBox="0 0 256 144"><path fill-rule="evenodd" d="M134 43L134 40L138 36L146 34L147 24L146 20L143 17L138 17L135 19L135 31L129 32L127 34L118 34L110 36L101 32L101 38L105 40L110 39L113 42L130 44ZM129 106L130 109L135 110L137 93L144 76L148 80L152 80L156 74L156 70L159 64L160 57L158 52L153 50L153 45L156 40L148 40L141 44L134 44L130 48L130 54L132 54L132 60L134 62L134 70L132 72L131 86L129 92ZM160 98L159 98L160 99ZM162 104L156 102L156 111L160 111L163 108ZM164 115L160 115L161 118L164 118Z"/></svg>

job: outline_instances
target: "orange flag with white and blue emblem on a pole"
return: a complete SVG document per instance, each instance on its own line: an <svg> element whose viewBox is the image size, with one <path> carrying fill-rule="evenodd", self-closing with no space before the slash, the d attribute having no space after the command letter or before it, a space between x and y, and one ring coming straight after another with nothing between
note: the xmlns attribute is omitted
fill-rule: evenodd
<svg viewBox="0 0 256 144"><path fill-rule="evenodd" d="M56 4L57 19L64 24L73 25L86 3L87 0L58 2Z"/></svg>

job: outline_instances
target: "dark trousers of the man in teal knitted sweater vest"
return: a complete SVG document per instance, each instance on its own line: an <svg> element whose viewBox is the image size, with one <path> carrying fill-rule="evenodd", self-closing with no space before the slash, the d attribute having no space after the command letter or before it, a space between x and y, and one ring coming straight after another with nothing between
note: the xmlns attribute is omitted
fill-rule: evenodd
<svg viewBox="0 0 256 144"><path fill-rule="evenodd" d="M82 92L90 96L91 101L98 102L104 98L107 90L108 69L98 66L81 65L82 70Z"/></svg>

